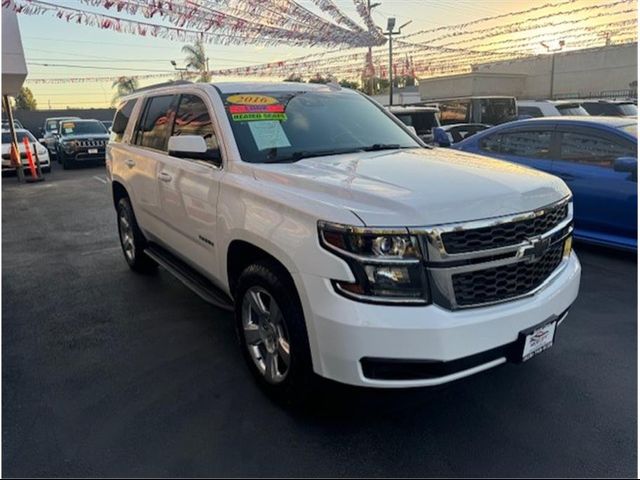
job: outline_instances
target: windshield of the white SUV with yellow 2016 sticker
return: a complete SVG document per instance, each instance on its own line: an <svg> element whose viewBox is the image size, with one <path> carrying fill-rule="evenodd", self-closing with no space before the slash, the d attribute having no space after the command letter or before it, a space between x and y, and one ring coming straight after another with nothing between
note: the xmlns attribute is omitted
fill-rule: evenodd
<svg viewBox="0 0 640 480"><path fill-rule="evenodd" d="M246 162L420 147L374 103L350 91L243 93L222 98Z"/></svg>

